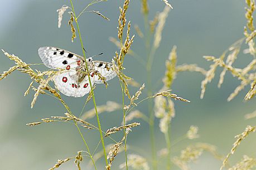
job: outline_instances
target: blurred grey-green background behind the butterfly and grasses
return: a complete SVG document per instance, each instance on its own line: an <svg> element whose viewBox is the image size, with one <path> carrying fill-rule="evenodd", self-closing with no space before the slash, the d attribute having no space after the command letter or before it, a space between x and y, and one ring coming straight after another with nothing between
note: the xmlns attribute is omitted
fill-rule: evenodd
<svg viewBox="0 0 256 170"><path fill-rule="evenodd" d="M79 13L90 1L74 1L76 13ZM160 0L149 2L149 18L162 11L165 4ZM205 61L203 55L214 55L218 57L233 42L243 37L243 26L246 24L244 17L244 1L239 0L195 0L195 1L170 1L173 8L166 20L166 26L162 32L163 38L156 52L153 63L153 82L162 79L165 74L165 60L173 45L177 46L178 65L197 64L209 69L210 62ZM32 1L32 0L10 0L1 1L0 15L0 48L19 56L26 63L41 63L37 55L37 49L41 46L56 46L82 54L79 38L71 42L70 27L67 21L70 16L64 14L61 28L57 28L57 12L63 4L70 6L69 1ZM122 1L107 1L98 3L90 10L100 11L110 18L103 20L93 13L85 13L79 19L81 35L83 36L85 49L91 55L104 52L98 60L111 61L117 49L109 41L109 37L117 37L117 19L119 6ZM143 16L141 14L141 1L131 1L127 20L131 20L132 26L138 24L143 30ZM132 28L131 34L136 34ZM143 41L136 36L132 50L146 58ZM239 54L235 66L243 67L252 56ZM0 72L8 70L13 62L0 54ZM146 82L146 72L133 57L125 59L125 73L133 77L139 83ZM33 67L38 70L46 70L44 65ZM218 69L219 73L221 70ZM217 88L219 74L211 84L207 85L205 98L200 99L201 80L204 77L194 72L182 72L177 75L172 89L173 93L191 100L191 103L175 101L176 117L172 120L172 139L177 139L186 133L190 125L199 127L200 138L185 140L173 147L173 155L187 144L195 142L207 142L218 147L220 154L227 154L235 139L234 136L243 132L246 125L254 125L254 119L244 120L244 114L256 109L255 101L244 102L244 95L249 86L243 90L234 100L228 102L226 99L233 92L240 81L228 73L221 89ZM33 92L24 97L23 94L30 84L30 78L18 71L13 72L6 79L0 81L0 169L49 169L57 159L64 159L76 154L79 150L86 150L79 133L74 126L64 123L42 124L36 127L27 127L26 123L37 122L41 118L52 115L63 115L64 107L50 96L40 95L36 105L30 109ZM147 86L147 85L146 85ZM156 87L158 91L162 85ZM131 88L133 94L136 88ZM96 103L105 104L106 101L122 100L118 79L109 82L108 89L104 85L98 85L95 90ZM76 115L83 108L84 98L69 98L62 95L66 103ZM144 98L146 94L142 95ZM93 108L90 101L86 110ZM138 107L147 114L147 104ZM100 115L103 130L120 125L122 122L122 111L104 113ZM136 120L142 122L142 120ZM95 119L90 120L96 125ZM156 122L158 129L158 122ZM83 129L90 148L94 150L99 142L99 133ZM157 130L157 149L165 147L163 134ZM115 135L115 139L120 136ZM252 134L245 139L235 155L231 157L231 163L238 161L243 154L255 156L256 135ZM106 140L107 143L111 141ZM128 136L128 144L139 148L137 151L144 157L150 158L149 133L146 123L141 127L134 128ZM101 148L101 145L99 149ZM98 149L98 151L99 151ZM133 150L128 153L133 153ZM89 169L88 158L85 158L83 169ZM113 163L113 169L118 169L120 163L124 162L123 154ZM98 162L99 169L104 167L103 159ZM100 165L102 164L102 165ZM219 169L221 162L216 161L210 154L203 154L192 169ZM100 168L102 167L102 168ZM60 169L76 169L71 161L63 164ZM173 166L173 169L178 169Z"/></svg>

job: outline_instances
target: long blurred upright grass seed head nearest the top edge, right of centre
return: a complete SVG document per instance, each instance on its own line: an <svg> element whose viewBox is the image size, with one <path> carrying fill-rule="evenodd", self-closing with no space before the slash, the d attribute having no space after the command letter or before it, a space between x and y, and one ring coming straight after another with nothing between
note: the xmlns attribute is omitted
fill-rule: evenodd
<svg viewBox="0 0 256 170"><path fill-rule="evenodd" d="M158 25L156 27L156 33L154 33L154 42L153 47L158 48L162 39L162 31L163 27L165 26L165 21L168 16L168 13L170 11L170 8L168 6L163 9L163 12L161 12L158 16Z"/></svg>

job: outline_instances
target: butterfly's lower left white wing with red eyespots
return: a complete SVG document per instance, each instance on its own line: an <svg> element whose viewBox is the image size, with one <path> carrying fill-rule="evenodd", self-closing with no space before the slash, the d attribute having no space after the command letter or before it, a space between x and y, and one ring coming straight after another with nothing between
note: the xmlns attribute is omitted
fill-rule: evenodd
<svg viewBox="0 0 256 170"><path fill-rule="evenodd" d="M92 86L94 84L94 77L95 76L90 77ZM61 93L75 98L83 97L91 90L87 75L84 77L83 81L80 82L80 84L76 84L75 78L70 76L69 72L64 72L57 75L54 82L57 89L59 89Z"/></svg>

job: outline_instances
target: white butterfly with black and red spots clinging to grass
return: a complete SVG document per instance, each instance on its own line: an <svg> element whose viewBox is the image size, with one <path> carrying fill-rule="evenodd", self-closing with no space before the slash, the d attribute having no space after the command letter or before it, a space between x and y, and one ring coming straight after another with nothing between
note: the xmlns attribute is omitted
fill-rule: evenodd
<svg viewBox="0 0 256 170"><path fill-rule="evenodd" d="M79 98L90 92L84 57L56 47L40 47L38 55L45 66L50 69L65 70L54 77L54 83L62 94ZM105 77L105 81L111 80L117 75L110 62L93 61L92 57L86 59L86 62L90 72L91 86L94 83L104 83L99 74Z"/></svg>

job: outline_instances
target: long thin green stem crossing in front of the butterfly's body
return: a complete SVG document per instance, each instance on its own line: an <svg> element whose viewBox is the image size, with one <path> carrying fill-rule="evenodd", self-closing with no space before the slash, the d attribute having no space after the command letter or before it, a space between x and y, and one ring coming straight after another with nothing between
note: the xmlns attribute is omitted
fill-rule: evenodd
<svg viewBox="0 0 256 170"><path fill-rule="evenodd" d="M87 62L86 62L86 56L85 56L85 51L84 51L84 45L83 45L83 41L82 41L82 38L81 38L81 33L80 33L79 25L78 25L78 19L76 18L76 15L75 15L75 10L74 10L74 6L73 6L72 0L70 0L70 4L71 4L71 6L72 6L72 11L73 11L73 14L74 14L74 17L75 17L76 26L77 26L77 28L78 28L79 38L80 38L80 42L81 42L81 48L82 48L82 50L83 50L83 55L84 55L84 59L85 59L86 70L89 70L88 64L87 64ZM89 71L88 71L88 72L89 72ZM88 74L88 78L89 78L89 83L90 83L90 88L91 88L91 94L92 94L92 96L93 96L94 109L95 109L95 114L96 114L96 117L97 117L97 122L98 122L98 127L99 127L99 133L100 133L100 139L101 139L101 141L102 141L102 147L103 147L103 152L104 152L104 156L105 156L105 163L106 163L106 166L108 166L107 153L106 153L105 144L104 144L104 139L103 139L103 135L102 135L102 127L101 127L101 125L100 125L99 114L98 114L97 107L96 107L96 101L95 101L93 86L91 85L91 80L90 80L90 72L89 72L89 74Z"/></svg>

